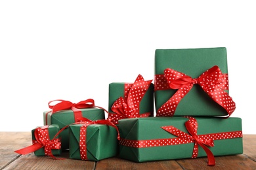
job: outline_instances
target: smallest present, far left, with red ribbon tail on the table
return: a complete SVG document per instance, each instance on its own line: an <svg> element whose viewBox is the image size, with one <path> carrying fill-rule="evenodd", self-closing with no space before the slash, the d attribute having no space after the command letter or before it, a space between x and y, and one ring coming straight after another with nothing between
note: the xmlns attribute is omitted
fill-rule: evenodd
<svg viewBox="0 0 256 170"><path fill-rule="evenodd" d="M35 156L54 156L61 154L60 137L57 135L60 128L56 124L37 127L32 130L32 145L15 152L18 154L29 154L34 152Z"/></svg>

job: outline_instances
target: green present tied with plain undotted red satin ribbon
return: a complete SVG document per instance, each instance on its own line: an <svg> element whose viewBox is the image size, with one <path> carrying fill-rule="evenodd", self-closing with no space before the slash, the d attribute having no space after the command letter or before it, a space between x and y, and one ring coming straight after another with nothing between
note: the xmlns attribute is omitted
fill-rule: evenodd
<svg viewBox="0 0 256 170"><path fill-rule="evenodd" d="M59 101L56 105L51 105L54 101ZM105 119L104 111L102 107L95 105L93 99L87 99L80 101L79 103L72 103L64 100L54 100L48 103L51 111L43 112L44 125L58 124L60 129L62 127L79 122L80 118L89 118L90 120ZM62 149L69 147L68 143L68 128L61 133L62 136Z"/></svg>

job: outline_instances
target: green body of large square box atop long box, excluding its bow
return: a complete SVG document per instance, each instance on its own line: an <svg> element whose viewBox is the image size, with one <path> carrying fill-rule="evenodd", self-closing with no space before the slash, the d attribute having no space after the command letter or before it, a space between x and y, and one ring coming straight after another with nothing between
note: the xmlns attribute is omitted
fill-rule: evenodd
<svg viewBox="0 0 256 170"><path fill-rule="evenodd" d="M175 108L176 110L172 110L171 107L168 107L168 104L165 104L167 101L171 101L171 97L175 95L177 89L182 88L169 88L169 84L167 83L168 80L165 80L167 77L165 74L165 69L170 68L174 70L173 73L169 73L168 75L170 79L172 78L171 76L175 76L175 74L177 74L177 71L183 73L182 76L187 75L191 78L198 78L200 75L202 75L202 73L214 66L219 67L221 73L223 73L223 76L226 76L224 78L221 76L221 78L223 78L223 84L226 85L226 90L223 91L224 93L228 94L228 67L226 48L157 49L155 52L154 80L156 116L160 116L160 112L168 115L168 111L172 112L172 116L173 114L174 116L228 115L226 110L221 107L220 103L213 101L213 97L207 95L207 93L203 91L202 87L198 86L198 82L195 79L191 80L191 84L194 84L194 86L192 85L192 89L190 89L189 92L186 93L184 97L182 97L179 105L174 106L177 107ZM184 80L182 81L182 83L185 82ZM171 80L169 82L171 82ZM213 95L215 97L215 94ZM217 95L219 96L219 93L217 93ZM176 99L180 96L180 94L177 95ZM176 100L173 98L173 101L171 102L176 102ZM167 109L167 107L169 109ZM231 113L234 111L234 108L234 103L232 103L232 107L230 107Z"/></svg>

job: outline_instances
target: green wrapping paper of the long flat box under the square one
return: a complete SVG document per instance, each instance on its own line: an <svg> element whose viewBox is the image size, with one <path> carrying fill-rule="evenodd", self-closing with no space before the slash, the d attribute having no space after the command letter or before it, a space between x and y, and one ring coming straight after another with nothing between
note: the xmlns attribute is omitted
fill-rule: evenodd
<svg viewBox="0 0 256 170"><path fill-rule="evenodd" d="M225 132L231 133L229 135L232 136L233 131L240 131L239 133L242 135L242 120L240 118L230 117L228 119L222 119L199 117L196 120L198 122L197 135L199 136L209 133L220 133L223 135ZM158 144L168 143L172 139L173 141L179 141L179 137L172 135L161 127L173 126L184 133L188 133L184 126L187 121L188 118L178 116L119 120L118 127L121 135L119 157L136 162L192 158L194 142L158 146ZM133 144L136 145L136 143L140 143L143 140L149 140L147 147L137 148L133 146ZM150 141L153 143L150 143ZM214 156L242 154L243 152L242 137L214 140L213 143L214 146L207 146L207 148L211 150ZM207 154L201 146L198 146L197 157L203 156L207 156Z"/></svg>

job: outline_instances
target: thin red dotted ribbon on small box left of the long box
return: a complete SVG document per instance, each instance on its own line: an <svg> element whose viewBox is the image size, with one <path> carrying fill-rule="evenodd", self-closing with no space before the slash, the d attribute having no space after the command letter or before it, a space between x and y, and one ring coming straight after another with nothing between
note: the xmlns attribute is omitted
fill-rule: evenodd
<svg viewBox="0 0 256 170"><path fill-rule="evenodd" d="M82 122L75 122L74 124L83 124L80 127L80 139L79 139L79 148L80 148L80 156L81 160L88 160L87 158L87 144L86 144L86 134L87 134L87 127L92 124L104 124L108 126L112 126L117 130L117 139L120 139L119 130L116 125L114 125L109 120L89 120L87 118L81 118L80 121Z"/></svg>

